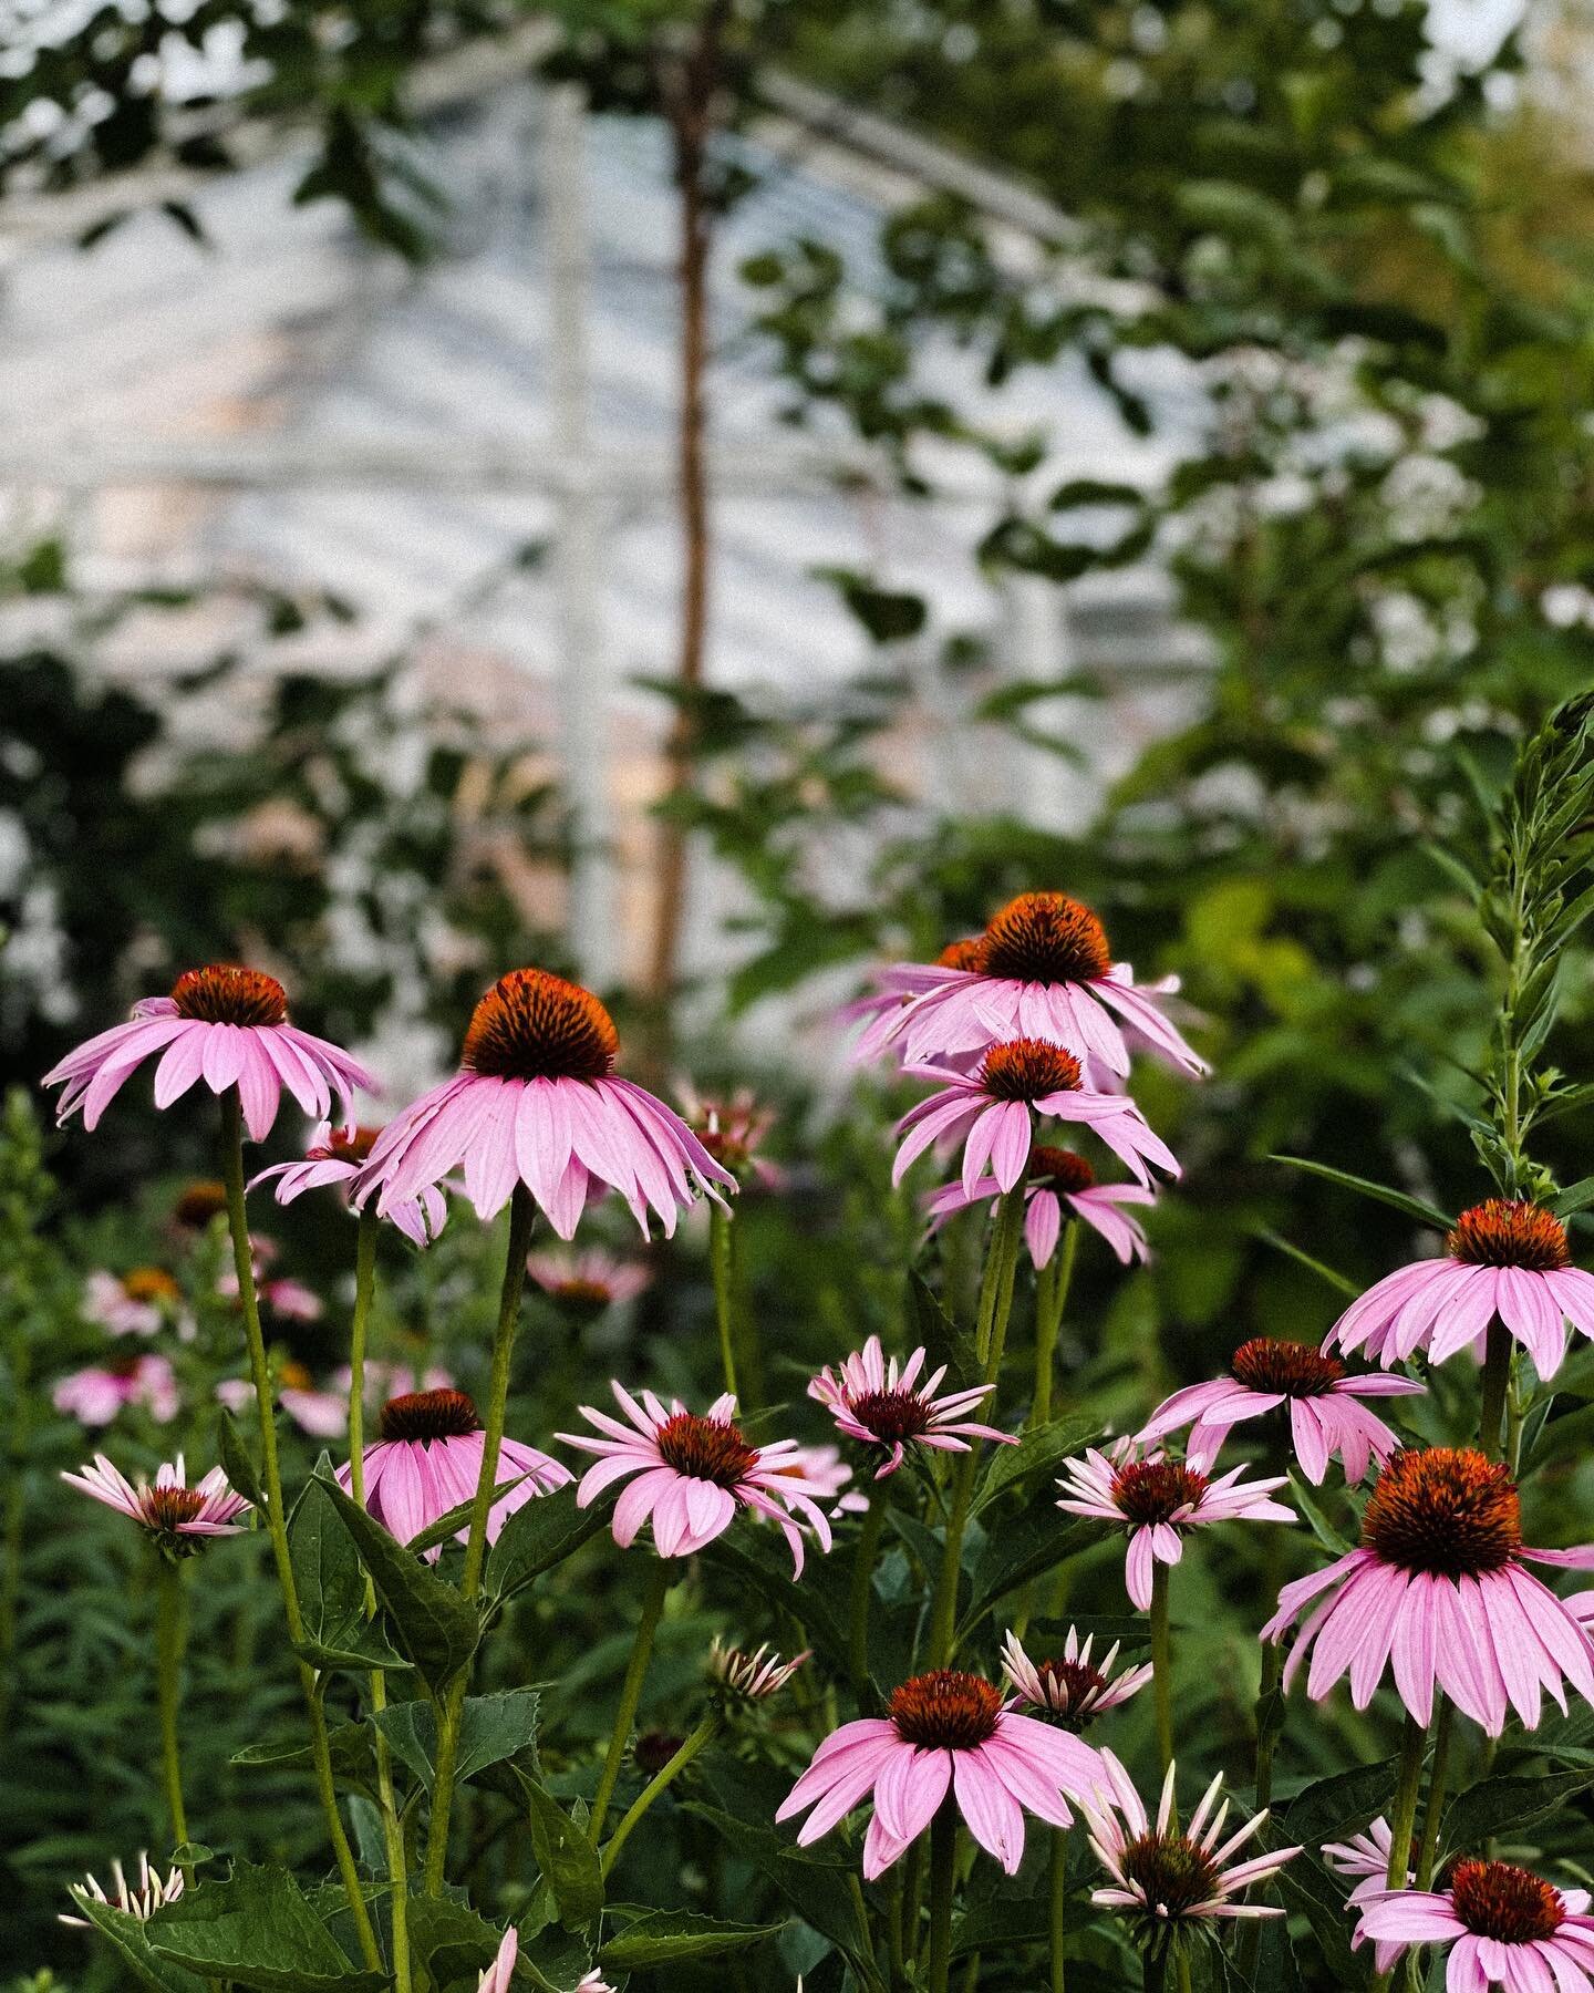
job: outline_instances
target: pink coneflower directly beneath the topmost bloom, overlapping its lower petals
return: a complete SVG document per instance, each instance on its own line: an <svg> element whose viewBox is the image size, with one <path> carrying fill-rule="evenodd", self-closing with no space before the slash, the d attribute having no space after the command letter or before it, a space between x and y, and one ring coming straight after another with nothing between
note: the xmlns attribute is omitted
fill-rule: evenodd
<svg viewBox="0 0 1594 1993"><path fill-rule="evenodd" d="M974 1072L938 1066L903 1070L911 1078L936 1080L940 1090L897 1122L903 1146L891 1170L893 1184L903 1182L930 1144L952 1148L962 1142L964 1196L974 1196L986 1164L996 1190L1012 1190L1028 1168L1034 1114L1084 1122L1142 1186L1150 1186L1150 1168L1180 1174L1174 1152L1148 1128L1134 1100L1128 1094L1088 1092L1078 1058L1048 1038L992 1044Z"/></svg>

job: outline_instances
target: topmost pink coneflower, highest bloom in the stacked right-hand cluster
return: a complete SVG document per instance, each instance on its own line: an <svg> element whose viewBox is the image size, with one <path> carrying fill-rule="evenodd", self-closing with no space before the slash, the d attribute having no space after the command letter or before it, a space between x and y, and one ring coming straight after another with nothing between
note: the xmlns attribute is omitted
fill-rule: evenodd
<svg viewBox="0 0 1594 1993"><path fill-rule="evenodd" d="M1066 893L1020 893L964 949L958 967L915 969L913 985L897 979L911 1000L879 1036L901 1042L909 1064L1032 1036L1122 1074L1130 1070L1126 1024L1172 1064L1205 1072L1152 993L1136 987L1134 971L1112 961L1096 915Z"/></svg>

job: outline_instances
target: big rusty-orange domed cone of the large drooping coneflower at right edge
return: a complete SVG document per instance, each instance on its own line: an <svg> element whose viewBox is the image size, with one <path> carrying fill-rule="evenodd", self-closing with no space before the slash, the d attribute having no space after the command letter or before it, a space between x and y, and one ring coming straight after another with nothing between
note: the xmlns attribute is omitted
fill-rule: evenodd
<svg viewBox="0 0 1594 1993"><path fill-rule="evenodd" d="M1447 1578L1500 1570L1522 1547L1510 1469L1472 1447L1403 1449L1367 1497L1361 1541L1401 1570Z"/></svg>

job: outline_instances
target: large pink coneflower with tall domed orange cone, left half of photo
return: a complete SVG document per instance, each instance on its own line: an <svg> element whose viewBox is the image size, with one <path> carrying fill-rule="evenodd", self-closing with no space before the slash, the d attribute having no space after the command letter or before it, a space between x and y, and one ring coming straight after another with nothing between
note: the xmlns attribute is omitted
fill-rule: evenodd
<svg viewBox="0 0 1594 1993"><path fill-rule="evenodd" d="M735 1190L673 1108L614 1070L620 1036L598 998L542 969L514 969L476 1004L460 1072L389 1122L355 1186L379 1210L418 1196L464 1164L478 1218L500 1212L516 1182L562 1240L594 1184L610 1184L648 1230L665 1234L697 1192Z"/></svg>

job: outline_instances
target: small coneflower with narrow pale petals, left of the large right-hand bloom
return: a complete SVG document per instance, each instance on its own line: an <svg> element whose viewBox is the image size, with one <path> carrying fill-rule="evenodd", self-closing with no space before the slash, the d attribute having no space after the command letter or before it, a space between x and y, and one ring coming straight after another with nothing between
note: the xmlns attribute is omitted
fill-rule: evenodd
<svg viewBox="0 0 1594 1993"><path fill-rule="evenodd" d="M1291 1509L1267 1499L1285 1485L1285 1475L1241 1481L1243 1473L1245 1467L1231 1467L1209 1481L1194 1467L1170 1461L1160 1447L1142 1453L1132 1439L1120 1439L1110 1455L1092 1447L1082 1459L1064 1461L1058 1509L1128 1531L1124 1582L1132 1602L1146 1612L1152 1604L1152 1566L1178 1565L1186 1531L1209 1523L1295 1521Z"/></svg>

